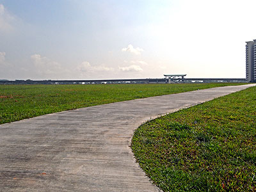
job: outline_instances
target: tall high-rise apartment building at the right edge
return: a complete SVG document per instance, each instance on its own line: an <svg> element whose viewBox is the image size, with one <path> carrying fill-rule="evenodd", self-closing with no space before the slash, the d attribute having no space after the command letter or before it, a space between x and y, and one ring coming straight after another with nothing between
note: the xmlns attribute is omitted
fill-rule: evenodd
<svg viewBox="0 0 256 192"><path fill-rule="evenodd" d="M256 82L256 40L246 42L246 80Z"/></svg>

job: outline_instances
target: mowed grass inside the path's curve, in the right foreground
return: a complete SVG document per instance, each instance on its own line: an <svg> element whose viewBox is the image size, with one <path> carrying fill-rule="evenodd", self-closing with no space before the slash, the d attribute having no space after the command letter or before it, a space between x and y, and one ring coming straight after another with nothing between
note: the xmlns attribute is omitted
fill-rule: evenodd
<svg viewBox="0 0 256 192"><path fill-rule="evenodd" d="M146 122L132 150L163 191L256 191L256 87Z"/></svg>

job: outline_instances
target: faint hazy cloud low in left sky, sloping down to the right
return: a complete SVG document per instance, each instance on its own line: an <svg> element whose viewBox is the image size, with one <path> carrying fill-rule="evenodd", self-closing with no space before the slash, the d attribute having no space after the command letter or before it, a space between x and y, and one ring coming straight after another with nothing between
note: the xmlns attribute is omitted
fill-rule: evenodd
<svg viewBox="0 0 256 192"><path fill-rule="evenodd" d="M36 71L40 74L56 74L62 71L60 63L51 61L46 57L40 56L40 54L33 54L30 56Z"/></svg>

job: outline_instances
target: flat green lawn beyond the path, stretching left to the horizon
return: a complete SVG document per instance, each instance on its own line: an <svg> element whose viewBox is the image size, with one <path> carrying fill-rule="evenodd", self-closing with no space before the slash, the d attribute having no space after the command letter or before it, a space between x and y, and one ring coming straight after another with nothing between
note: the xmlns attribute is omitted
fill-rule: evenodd
<svg viewBox="0 0 256 192"><path fill-rule="evenodd" d="M0 124L68 109L227 85L232 84L0 85Z"/></svg>

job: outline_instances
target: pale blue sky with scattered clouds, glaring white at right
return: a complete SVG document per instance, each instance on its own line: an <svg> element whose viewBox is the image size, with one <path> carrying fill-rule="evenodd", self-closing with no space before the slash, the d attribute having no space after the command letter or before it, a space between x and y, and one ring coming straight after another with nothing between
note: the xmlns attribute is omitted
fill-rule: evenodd
<svg viewBox="0 0 256 192"><path fill-rule="evenodd" d="M0 79L245 78L255 0L0 0Z"/></svg>

